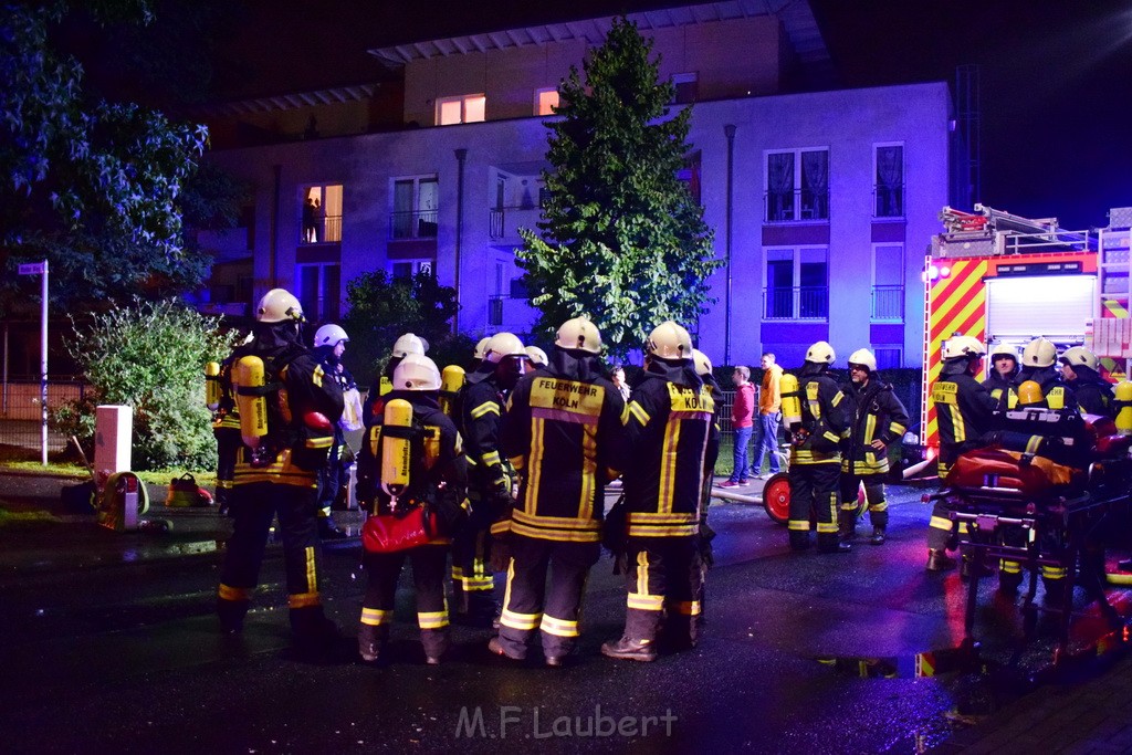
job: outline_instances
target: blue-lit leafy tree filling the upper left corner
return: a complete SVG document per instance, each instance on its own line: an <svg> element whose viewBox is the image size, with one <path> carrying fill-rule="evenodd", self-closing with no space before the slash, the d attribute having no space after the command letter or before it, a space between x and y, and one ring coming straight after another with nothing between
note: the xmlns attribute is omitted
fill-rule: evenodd
<svg viewBox="0 0 1132 755"><path fill-rule="evenodd" d="M76 7L98 23L152 19L148 0ZM185 250L180 200L207 130L85 92L83 66L52 37L71 11L0 8L0 266L46 258L63 306L183 290L206 269ZM31 303L2 280L0 311Z"/></svg>

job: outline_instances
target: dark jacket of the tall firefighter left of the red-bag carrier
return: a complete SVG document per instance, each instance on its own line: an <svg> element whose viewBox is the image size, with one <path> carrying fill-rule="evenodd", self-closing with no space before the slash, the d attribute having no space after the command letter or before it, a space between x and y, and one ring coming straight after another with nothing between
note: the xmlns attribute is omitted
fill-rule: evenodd
<svg viewBox="0 0 1132 755"><path fill-rule="evenodd" d="M251 343L232 352L233 364L248 354L264 360L267 436L263 443L277 448L268 464L252 466L251 449L241 447L235 487L272 482L315 488L334 443L334 428L342 417L342 389L298 342L293 328L291 324L261 327Z"/></svg>

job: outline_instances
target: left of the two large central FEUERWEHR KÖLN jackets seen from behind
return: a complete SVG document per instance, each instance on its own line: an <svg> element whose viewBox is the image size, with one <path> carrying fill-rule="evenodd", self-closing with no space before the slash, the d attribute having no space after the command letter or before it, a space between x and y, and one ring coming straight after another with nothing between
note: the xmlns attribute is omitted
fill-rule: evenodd
<svg viewBox="0 0 1132 755"><path fill-rule="evenodd" d="M500 438L522 473L511 521L516 534L601 540L606 482L625 465L625 401L597 359L580 354L556 349L508 398Z"/></svg>

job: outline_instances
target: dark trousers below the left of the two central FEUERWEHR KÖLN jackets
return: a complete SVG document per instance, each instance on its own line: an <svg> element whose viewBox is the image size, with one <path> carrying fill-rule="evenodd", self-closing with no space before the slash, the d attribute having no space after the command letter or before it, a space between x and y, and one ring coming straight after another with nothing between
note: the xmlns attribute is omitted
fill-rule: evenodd
<svg viewBox="0 0 1132 755"><path fill-rule="evenodd" d="M512 556L499 644L512 658L523 658L534 633L540 632L544 655L568 655L577 643L585 581L601 556L601 544L515 533L509 538Z"/></svg>

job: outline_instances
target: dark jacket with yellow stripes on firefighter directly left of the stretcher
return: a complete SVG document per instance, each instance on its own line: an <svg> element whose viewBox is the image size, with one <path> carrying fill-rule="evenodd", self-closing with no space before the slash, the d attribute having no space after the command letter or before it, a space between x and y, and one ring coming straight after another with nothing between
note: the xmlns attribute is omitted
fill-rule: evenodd
<svg viewBox="0 0 1132 755"><path fill-rule="evenodd" d="M940 465L950 467L990 429L995 402L986 387L967 374L966 360L944 363L932 386L932 401L940 424Z"/></svg>

